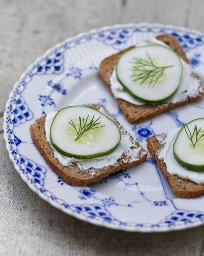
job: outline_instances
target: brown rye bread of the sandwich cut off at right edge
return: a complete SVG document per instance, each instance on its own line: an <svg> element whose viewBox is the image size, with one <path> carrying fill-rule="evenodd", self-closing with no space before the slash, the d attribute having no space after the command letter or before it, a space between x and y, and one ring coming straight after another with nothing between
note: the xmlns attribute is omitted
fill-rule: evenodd
<svg viewBox="0 0 204 256"><path fill-rule="evenodd" d="M147 147L152 157L158 164L161 173L169 182L173 193L180 198L196 198L204 195L204 184L198 184L188 179L182 179L177 175L170 175L167 170L166 163L158 158L158 154L165 146L162 141L166 138L167 134L154 135L147 139Z"/></svg>

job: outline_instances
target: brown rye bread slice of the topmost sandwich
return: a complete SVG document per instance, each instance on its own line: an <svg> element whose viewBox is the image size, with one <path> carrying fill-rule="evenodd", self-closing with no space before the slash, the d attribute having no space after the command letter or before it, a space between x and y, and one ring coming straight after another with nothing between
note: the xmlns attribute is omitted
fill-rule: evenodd
<svg viewBox="0 0 204 256"><path fill-rule="evenodd" d="M185 52L182 50L176 38L170 35L158 35L156 36L156 38L164 42L165 44L169 45L170 48L172 48L186 63L189 64L189 60L186 57ZM111 84L109 82L109 79L111 77L111 74L114 70L115 65L117 64L118 59L122 54L124 54L124 52L134 47L135 46L131 46L130 48L127 48L123 51L119 51L117 54L113 54L108 58L105 58L101 62L99 66L99 77L105 83L109 91L111 91ZM153 118L158 114L164 113L178 106L182 106L190 102L194 102L204 96L204 90L201 83L201 79L195 73L192 73L192 77L194 77L194 79L197 79L200 83L200 87L198 91L195 93L195 95L186 96L185 98L179 100L178 102L159 103L154 105L145 104L142 106L136 106L123 99L116 99L117 104L119 108L122 110L122 112L124 113L126 119L130 123L140 122L149 118Z"/></svg>

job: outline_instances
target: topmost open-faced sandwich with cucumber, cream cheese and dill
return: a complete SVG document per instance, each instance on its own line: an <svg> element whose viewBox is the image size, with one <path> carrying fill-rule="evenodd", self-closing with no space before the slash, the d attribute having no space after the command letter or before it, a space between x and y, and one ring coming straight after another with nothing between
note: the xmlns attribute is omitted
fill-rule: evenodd
<svg viewBox="0 0 204 256"><path fill-rule="evenodd" d="M170 35L158 35L105 58L99 76L131 123L204 95L200 77Z"/></svg>

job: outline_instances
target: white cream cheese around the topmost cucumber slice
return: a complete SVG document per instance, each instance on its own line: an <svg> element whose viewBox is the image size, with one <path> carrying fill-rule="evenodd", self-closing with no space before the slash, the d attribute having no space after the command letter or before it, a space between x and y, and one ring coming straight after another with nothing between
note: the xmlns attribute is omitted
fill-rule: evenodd
<svg viewBox="0 0 204 256"><path fill-rule="evenodd" d="M147 39L145 42L141 42L137 46L144 46L144 45L150 45L150 44L158 44L158 45L164 45L168 47L166 44L157 40L156 38ZM165 101L166 103L178 102L181 99L184 99L186 95L193 96L195 95L196 92L198 92L198 88L200 86L199 81L194 77L192 77L193 68L189 64L187 64L185 61L183 61L181 58L180 60L183 66L181 83L176 93L170 99ZM124 87L117 80L115 68L111 74L109 81L111 83L111 90L113 92L115 99L124 99L127 102L130 102L134 105L146 104L145 102L135 99L126 90L124 90Z"/></svg>

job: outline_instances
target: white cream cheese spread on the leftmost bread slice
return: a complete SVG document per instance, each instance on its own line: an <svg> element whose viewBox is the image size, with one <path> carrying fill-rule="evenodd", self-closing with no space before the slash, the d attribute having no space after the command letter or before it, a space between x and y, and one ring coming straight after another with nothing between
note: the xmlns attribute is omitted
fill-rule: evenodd
<svg viewBox="0 0 204 256"><path fill-rule="evenodd" d="M102 110L100 109L102 112ZM131 148L133 144L131 143L128 134L121 134L121 142L117 146L117 148L108 155L103 157L96 157L92 159L76 159L74 157L66 157L60 154L51 144L49 134L50 134L50 126L52 125L53 119L57 112L50 112L46 115L45 120L45 131L46 131L46 140L49 142L50 146L54 151L54 156L62 163L63 166L70 166L73 163L76 163L80 169L87 170L89 168L103 168L106 166L113 165L117 162L117 159L121 158L122 154L125 152L127 156L130 157L128 160L129 163L136 161L138 157L138 153L141 150L141 147ZM94 172L93 172L94 175Z"/></svg>

